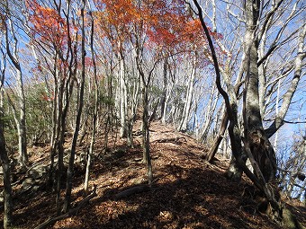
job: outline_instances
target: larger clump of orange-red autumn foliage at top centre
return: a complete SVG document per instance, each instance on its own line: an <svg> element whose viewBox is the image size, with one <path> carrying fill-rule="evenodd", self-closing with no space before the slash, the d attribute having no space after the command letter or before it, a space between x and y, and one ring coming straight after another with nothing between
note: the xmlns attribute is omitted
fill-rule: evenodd
<svg viewBox="0 0 306 229"><path fill-rule="evenodd" d="M114 48L118 41L140 36L146 37L148 48L187 49L206 43L200 21L193 19L184 0L95 0L95 4L99 32Z"/></svg>

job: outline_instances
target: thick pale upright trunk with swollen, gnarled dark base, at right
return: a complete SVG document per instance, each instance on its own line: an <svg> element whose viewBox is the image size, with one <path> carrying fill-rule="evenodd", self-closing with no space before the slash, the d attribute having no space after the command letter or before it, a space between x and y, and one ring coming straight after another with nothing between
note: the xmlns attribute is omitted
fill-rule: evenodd
<svg viewBox="0 0 306 229"><path fill-rule="evenodd" d="M259 74L257 39L254 32L259 16L259 1L246 2L247 31L245 35L245 54L247 56L247 98L245 134L250 150L259 164L266 182L274 181L276 175L276 159L273 147L265 136L259 103ZM258 8L257 8L258 7Z"/></svg>

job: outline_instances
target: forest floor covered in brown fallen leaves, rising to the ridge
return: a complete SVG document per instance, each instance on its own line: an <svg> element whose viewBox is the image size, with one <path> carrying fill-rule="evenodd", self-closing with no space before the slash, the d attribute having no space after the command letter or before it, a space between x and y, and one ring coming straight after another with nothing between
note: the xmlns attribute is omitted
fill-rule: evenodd
<svg viewBox="0 0 306 229"><path fill-rule="evenodd" d="M223 176L229 161L219 158L213 164L205 162L204 145L159 122L150 126L152 188L118 196L123 190L147 184L147 168L141 163L141 135L134 132L134 148L112 138L107 154L103 154L103 139L97 139L90 177L90 187L96 186L97 195L74 216L49 228L279 228L257 211L256 202L246 191L250 184L247 178L234 183ZM31 160L48 158L48 150L32 148ZM76 168L74 203L83 198L84 174L85 169ZM18 189L20 186L15 186L14 193ZM306 225L306 208L288 206ZM3 207L0 211L3 221ZM55 212L55 193L38 189L14 196L14 228L34 228Z"/></svg>

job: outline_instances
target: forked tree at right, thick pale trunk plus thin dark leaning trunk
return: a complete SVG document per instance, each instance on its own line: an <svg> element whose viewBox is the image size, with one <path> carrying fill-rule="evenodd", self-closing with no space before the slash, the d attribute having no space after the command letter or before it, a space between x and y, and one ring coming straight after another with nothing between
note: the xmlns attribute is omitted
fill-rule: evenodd
<svg viewBox="0 0 306 229"><path fill-rule="evenodd" d="M254 182L257 188L265 195L267 201L272 207L272 214L276 221L280 223L284 219L283 215L283 205L279 202L278 190L275 189L275 184L271 183L275 179L275 158L272 145L269 143L267 137L262 135L263 128L261 123L260 109L259 109L259 99L258 99L258 69L257 69L257 42L254 36L257 19L259 16L259 0L247 0L245 3L245 12L247 17L247 33L246 33L246 47L245 52L247 53L247 76L246 76L246 88L244 91L244 146L242 148L240 137L240 131L238 128L238 108L237 103L230 104L229 96L220 85L220 69L218 60L216 57L215 49L211 40L209 30L203 21L202 8L196 0L193 0L196 5L199 18L202 23L203 30L205 31L206 37L211 48L211 56L213 59L215 71L216 71L216 83L218 90L222 94L228 114L229 114L229 137L231 142L231 147L235 159L237 160L241 170L246 172L247 176ZM250 96L255 96L254 100L251 101ZM252 98L253 99L253 98ZM242 151L247 153L252 166L255 170L254 175L250 172L245 164L243 158L241 158ZM266 182L267 180L268 182ZM286 211L289 212L289 211ZM290 212L288 213L290 215ZM292 215L290 215L291 217ZM288 225L288 222L282 222ZM293 223L293 222L291 222ZM301 228L298 223L293 223L290 228Z"/></svg>

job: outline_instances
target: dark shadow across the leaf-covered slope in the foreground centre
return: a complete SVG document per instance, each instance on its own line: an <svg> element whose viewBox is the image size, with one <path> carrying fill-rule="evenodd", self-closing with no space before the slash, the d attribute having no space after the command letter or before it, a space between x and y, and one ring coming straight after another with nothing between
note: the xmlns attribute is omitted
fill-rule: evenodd
<svg viewBox="0 0 306 229"><path fill-rule="evenodd" d="M106 189L76 216L79 228L278 228L263 223L255 203L241 197L241 184L229 183L220 172L175 164L163 170L175 181L119 200L114 197L122 189Z"/></svg>

